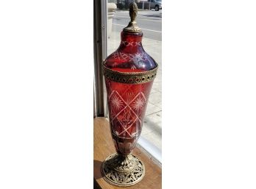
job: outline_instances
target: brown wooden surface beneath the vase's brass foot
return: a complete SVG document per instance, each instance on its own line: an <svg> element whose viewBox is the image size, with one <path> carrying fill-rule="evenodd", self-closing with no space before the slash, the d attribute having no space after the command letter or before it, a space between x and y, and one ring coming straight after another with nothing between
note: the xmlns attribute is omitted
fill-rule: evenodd
<svg viewBox="0 0 256 189"><path fill-rule="evenodd" d="M120 188L105 182L100 171L102 162L110 154L115 153L115 147L110 133L110 125L106 118L94 118L93 133L93 179L94 188L112 189ZM138 184L128 187L129 189L160 189L162 188L162 169L154 163L152 157L146 154L143 149L136 147L132 154L143 161L146 174Z"/></svg>

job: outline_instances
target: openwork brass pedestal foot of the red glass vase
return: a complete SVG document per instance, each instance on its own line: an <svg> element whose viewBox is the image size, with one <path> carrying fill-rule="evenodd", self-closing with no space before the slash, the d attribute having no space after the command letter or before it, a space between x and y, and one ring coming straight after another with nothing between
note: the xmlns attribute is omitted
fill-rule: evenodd
<svg viewBox="0 0 256 189"><path fill-rule="evenodd" d="M131 186L140 182L145 167L135 155L112 154L102 163L102 176L112 185Z"/></svg>

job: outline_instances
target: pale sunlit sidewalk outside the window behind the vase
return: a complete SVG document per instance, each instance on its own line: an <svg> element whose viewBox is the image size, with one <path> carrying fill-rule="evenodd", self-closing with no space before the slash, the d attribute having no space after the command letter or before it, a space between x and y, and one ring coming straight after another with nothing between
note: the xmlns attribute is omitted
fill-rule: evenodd
<svg viewBox="0 0 256 189"><path fill-rule="evenodd" d="M120 32L110 34L107 40L107 54L118 49L120 40ZM151 40L143 36L142 45L157 62L159 68L149 96L141 136L162 150L162 41Z"/></svg>

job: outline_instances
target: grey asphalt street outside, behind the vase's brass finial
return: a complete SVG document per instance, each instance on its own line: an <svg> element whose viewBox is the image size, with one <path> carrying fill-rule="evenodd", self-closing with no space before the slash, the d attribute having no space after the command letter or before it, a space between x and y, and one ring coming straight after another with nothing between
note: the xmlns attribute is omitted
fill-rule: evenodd
<svg viewBox="0 0 256 189"><path fill-rule="evenodd" d="M117 10L113 17L113 32L121 32L129 21L129 11ZM162 10L139 10L136 21L144 38L162 41Z"/></svg>

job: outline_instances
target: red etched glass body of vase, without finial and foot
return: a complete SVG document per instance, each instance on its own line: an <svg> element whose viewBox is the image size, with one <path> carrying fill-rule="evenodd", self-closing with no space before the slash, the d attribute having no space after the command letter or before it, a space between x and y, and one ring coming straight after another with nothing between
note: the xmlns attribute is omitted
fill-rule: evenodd
<svg viewBox="0 0 256 189"><path fill-rule="evenodd" d="M116 151L124 156L132 152L141 135L155 76L144 73L157 69L157 63L143 49L142 38L142 32L121 32L120 46L104 60L104 68L113 71L104 74L111 134ZM142 76L127 82L122 74Z"/></svg>

